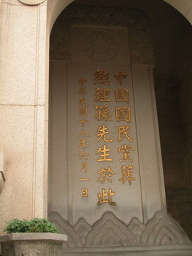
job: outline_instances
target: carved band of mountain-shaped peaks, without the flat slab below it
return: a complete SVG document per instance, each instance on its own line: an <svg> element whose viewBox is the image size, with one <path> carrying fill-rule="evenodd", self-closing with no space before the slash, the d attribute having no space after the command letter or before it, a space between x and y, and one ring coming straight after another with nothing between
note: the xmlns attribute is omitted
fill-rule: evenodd
<svg viewBox="0 0 192 256"><path fill-rule="evenodd" d="M49 219L60 227L62 233L68 235L65 247L190 245L192 255L192 244L185 231L171 215L162 210L157 211L146 225L138 218L132 218L127 225L109 211L93 225L80 218L72 226L58 213L50 213Z"/></svg>

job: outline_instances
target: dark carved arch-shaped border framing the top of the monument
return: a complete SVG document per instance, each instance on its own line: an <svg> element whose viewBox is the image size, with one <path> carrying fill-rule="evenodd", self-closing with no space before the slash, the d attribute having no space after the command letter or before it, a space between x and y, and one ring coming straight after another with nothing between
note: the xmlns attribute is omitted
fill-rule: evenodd
<svg viewBox="0 0 192 256"><path fill-rule="evenodd" d="M137 9L97 6L68 6L55 22L50 35L50 59L70 61L70 29L73 25L128 28L132 65L154 65L149 17Z"/></svg>

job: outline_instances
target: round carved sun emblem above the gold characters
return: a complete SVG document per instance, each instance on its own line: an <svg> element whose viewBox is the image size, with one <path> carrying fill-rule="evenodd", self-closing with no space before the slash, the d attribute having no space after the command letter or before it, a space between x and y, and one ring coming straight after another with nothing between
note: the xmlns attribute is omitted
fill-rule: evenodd
<svg viewBox="0 0 192 256"><path fill-rule="evenodd" d="M119 52L119 44L114 37L105 31L92 31L85 36L82 49L88 58L107 62Z"/></svg>

